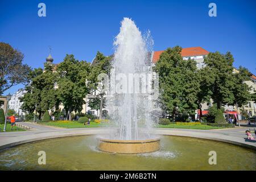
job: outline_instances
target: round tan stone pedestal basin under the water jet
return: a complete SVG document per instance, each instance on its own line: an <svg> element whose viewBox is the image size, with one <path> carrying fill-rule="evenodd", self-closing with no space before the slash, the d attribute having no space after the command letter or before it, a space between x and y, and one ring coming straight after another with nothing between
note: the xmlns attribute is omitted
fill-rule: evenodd
<svg viewBox="0 0 256 182"><path fill-rule="evenodd" d="M98 138L98 149L119 154L154 152L160 148L160 138L146 140L113 140Z"/></svg>

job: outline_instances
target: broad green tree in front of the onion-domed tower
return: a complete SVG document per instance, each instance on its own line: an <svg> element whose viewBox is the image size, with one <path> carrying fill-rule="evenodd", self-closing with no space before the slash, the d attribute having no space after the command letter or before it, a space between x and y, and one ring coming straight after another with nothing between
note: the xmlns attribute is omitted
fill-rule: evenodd
<svg viewBox="0 0 256 182"><path fill-rule="evenodd" d="M26 86L26 93L20 101L23 102L21 108L23 111L39 113L41 119L42 113L53 107L58 107L60 101L57 98L55 84L57 74L52 72L52 66L46 63L45 69L34 69L29 74L30 84Z"/></svg>

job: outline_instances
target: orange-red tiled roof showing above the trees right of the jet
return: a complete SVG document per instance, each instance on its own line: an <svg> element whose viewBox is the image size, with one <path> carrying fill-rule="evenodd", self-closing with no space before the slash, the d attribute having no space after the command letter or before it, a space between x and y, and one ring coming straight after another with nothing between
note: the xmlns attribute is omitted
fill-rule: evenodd
<svg viewBox="0 0 256 182"><path fill-rule="evenodd" d="M156 63L159 60L160 54L164 51L155 51L154 55L152 57L152 62ZM181 56L187 57L187 56L201 56L201 55L208 55L209 51L201 48L201 47L188 47L183 48L181 50Z"/></svg>

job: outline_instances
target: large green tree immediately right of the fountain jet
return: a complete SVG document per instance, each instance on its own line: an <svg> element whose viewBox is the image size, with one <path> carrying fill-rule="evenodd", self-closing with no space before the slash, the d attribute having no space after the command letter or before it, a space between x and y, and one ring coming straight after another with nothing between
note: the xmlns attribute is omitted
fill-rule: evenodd
<svg viewBox="0 0 256 182"><path fill-rule="evenodd" d="M181 47L168 48L156 63L162 109L175 118L176 113L195 113L200 90L194 60L183 60Z"/></svg>

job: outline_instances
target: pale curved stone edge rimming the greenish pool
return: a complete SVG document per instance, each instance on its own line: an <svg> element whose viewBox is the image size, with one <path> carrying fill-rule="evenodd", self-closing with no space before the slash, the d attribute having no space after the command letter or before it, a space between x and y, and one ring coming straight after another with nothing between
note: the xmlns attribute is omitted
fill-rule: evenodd
<svg viewBox="0 0 256 182"><path fill-rule="evenodd" d="M63 138L63 137L75 137L81 135L97 135L105 134L104 128L90 128L90 129L63 129L63 130L51 130L51 131L28 131L24 133L7 133L0 135L0 150L5 148L18 146L20 144L37 142L40 140ZM179 137L192 137L208 140L216 140L218 142L225 142L234 144L241 147L250 148L256 150L256 142L245 142L242 137L235 135L226 135L225 133L214 133L207 131L192 131L192 130L178 130L178 129L152 129L152 134L156 135L173 135Z"/></svg>

